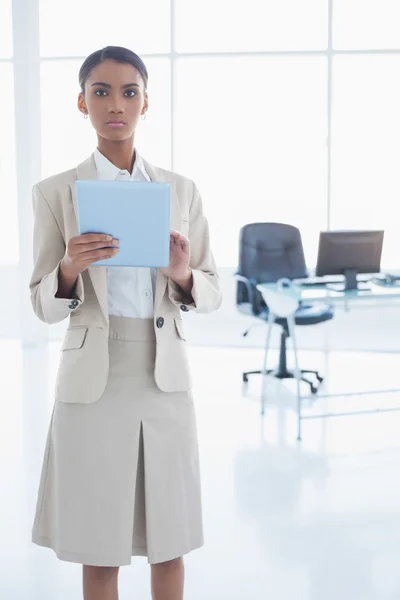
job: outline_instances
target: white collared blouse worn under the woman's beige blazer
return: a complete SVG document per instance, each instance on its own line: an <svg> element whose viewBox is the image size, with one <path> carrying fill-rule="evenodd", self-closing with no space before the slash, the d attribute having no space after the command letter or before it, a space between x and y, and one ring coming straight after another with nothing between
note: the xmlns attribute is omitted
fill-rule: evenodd
<svg viewBox="0 0 400 600"><path fill-rule="evenodd" d="M137 151L132 173L126 169L118 169L97 148L94 158L99 179L150 181ZM107 267L108 314L132 319L151 319L154 315L155 280L156 269Z"/></svg>

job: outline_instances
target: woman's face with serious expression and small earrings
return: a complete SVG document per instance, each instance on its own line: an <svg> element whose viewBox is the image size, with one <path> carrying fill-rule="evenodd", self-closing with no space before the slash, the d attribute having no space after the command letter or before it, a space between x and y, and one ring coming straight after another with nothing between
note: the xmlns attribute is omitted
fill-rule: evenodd
<svg viewBox="0 0 400 600"><path fill-rule="evenodd" d="M106 60L90 73L78 108L89 115L100 137L126 140L148 108L142 76L132 65Z"/></svg>

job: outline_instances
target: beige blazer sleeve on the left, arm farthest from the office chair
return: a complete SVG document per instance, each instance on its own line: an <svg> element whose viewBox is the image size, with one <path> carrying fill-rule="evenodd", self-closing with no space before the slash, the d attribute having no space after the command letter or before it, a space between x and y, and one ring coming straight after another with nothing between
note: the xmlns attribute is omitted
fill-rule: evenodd
<svg viewBox="0 0 400 600"><path fill-rule="evenodd" d="M84 301L82 275L78 277L72 298L56 297L65 241L39 185L33 187L33 212L34 268L29 284L32 306L41 321L59 323Z"/></svg>

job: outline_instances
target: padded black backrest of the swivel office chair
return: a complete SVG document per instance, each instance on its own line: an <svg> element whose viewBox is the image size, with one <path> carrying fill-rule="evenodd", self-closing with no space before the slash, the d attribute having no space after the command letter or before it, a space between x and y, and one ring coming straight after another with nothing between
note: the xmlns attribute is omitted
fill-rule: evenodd
<svg viewBox="0 0 400 600"><path fill-rule="evenodd" d="M307 277L301 234L297 227L283 223L249 223L240 230L238 274L253 285L273 283L281 277ZM259 292L256 293L260 307ZM237 303L249 302L248 290L242 282L237 286ZM254 305L254 302L253 302ZM265 306L265 304L264 304Z"/></svg>

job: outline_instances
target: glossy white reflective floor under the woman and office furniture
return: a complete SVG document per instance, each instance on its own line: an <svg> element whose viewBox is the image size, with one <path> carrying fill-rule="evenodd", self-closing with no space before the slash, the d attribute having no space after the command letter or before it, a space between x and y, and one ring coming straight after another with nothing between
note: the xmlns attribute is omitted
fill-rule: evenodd
<svg viewBox="0 0 400 600"><path fill-rule="evenodd" d="M0 597L81 598L81 570L30 542L59 344L0 341ZM304 422L293 388L240 373L259 350L190 348L206 545L186 559L187 600L400 598L400 412ZM301 354L328 392L400 387L397 355ZM307 415L397 406L400 394L305 402ZM120 599L149 599L145 559L121 569Z"/></svg>

